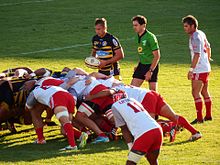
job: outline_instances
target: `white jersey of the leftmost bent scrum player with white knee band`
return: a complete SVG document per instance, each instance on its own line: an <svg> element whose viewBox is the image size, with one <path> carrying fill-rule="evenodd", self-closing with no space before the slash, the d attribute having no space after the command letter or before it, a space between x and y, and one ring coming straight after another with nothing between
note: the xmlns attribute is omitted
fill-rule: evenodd
<svg viewBox="0 0 220 165"><path fill-rule="evenodd" d="M50 87L36 87L32 92L34 95L34 98L41 104L47 105L50 108L50 100L52 98L52 96L59 91L64 91L67 92L66 90L64 90L61 87L57 87L57 86L50 86Z"/></svg>

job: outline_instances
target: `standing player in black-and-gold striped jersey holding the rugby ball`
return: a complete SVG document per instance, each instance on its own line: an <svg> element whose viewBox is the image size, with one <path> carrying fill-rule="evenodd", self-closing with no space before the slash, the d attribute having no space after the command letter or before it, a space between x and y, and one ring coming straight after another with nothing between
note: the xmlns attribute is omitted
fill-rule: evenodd
<svg viewBox="0 0 220 165"><path fill-rule="evenodd" d="M92 38L92 56L100 59L99 73L113 75L121 80L119 60L124 58L124 52L119 40L107 32L105 18L96 18L96 35Z"/></svg>

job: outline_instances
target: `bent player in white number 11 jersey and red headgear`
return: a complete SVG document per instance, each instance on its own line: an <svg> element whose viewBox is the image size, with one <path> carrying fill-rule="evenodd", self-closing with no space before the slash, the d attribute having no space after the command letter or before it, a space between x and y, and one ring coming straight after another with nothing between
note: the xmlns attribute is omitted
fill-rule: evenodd
<svg viewBox="0 0 220 165"><path fill-rule="evenodd" d="M157 165L163 136L160 125L143 106L132 98L124 98L112 105L116 127L121 127L130 149L127 165L134 165L146 156L151 165Z"/></svg>

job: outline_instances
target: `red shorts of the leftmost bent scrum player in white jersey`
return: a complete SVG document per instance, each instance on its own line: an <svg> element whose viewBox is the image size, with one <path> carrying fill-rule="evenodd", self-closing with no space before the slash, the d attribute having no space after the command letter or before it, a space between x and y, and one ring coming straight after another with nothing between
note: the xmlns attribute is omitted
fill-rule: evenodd
<svg viewBox="0 0 220 165"><path fill-rule="evenodd" d="M74 113L75 101L70 93L59 91L52 96L50 106L52 109L58 106L63 106L67 108L69 113Z"/></svg>

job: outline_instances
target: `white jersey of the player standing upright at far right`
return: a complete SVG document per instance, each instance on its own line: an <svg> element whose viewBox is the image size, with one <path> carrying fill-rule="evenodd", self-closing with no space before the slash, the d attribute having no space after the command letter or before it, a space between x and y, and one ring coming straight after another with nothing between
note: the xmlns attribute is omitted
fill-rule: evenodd
<svg viewBox="0 0 220 165"><path fill-rule="evenodd" d="M194 53L200 54L199 61L193 70L194 73L206 73L211 71L207 48L210 48L210 44L205 33L203 33L201 30L195 31L189 39L191 59L193 59Z"/></svg>

